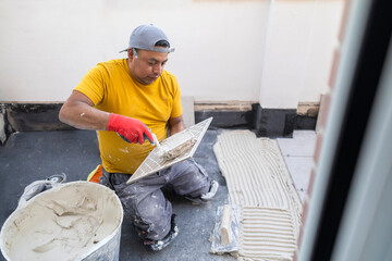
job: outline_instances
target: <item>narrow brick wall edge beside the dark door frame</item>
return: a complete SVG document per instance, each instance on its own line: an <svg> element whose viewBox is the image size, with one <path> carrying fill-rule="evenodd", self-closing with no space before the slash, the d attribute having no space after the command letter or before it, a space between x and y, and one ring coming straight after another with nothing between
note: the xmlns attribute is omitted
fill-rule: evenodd
<svg viewBox="0 0 392 261"><path fill-rule="evenodd" d="M319 132L317 133L316 148L315 148L315 154L314 154L314 167L313 167L311 173L310 173L309 185L308 185L308 189L307 189L307 196L306 196L306 198L304 200L304 206L303 206L303 215L302 215L302 224L303 225L301 227L299 236L298 236L298 239L297 239L298 248L301 247L302 237L303 237L303 233L304 233L303 232L304 224L306 222L306 216L307 216L307 213L308 213L309 199L310 199L311 192L313 192L313 186L314 186L315 176L317 175L318 161L319 161L322 140L323 140L323 136L324 136L326 124L327 124L328 115L329 115L329 112L330 112L333 87L334 87L335 80L336 80L338 65L339 65L339 61L340 61L340 57L341 57L340 47L341 47L341 44L343 41L343 37L344 37L344 33L345 33L350 5L351 5L351 1L345 0L344 1L344 10L343 10L342 22L341 22L339 34L336 36L339 44L335 47L335 50L333 52L333 58L332 58L330 77L329 77L329 83L328 83L329 84L329 91L323 97L322 104L321 104L322 110L320 109L320 113L318 115L320 117L319 122L318 122ZM297 253L298 253L298 249L297 249L296 252L294 252L294 257L293 257L294 261L297 260Z"/></svg>

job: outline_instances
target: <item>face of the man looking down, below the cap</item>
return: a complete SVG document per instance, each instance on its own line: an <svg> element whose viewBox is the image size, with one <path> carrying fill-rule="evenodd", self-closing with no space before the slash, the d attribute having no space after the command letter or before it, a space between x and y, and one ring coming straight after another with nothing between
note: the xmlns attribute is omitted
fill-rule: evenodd
<svg viewBox="0 0 392 261"><path fill-rule="evenodd" d="M168 53L137 50L137 58L133 50L128 50L128 65L131 75L143 85L152 84L161 74L168 62Z"/></svg>

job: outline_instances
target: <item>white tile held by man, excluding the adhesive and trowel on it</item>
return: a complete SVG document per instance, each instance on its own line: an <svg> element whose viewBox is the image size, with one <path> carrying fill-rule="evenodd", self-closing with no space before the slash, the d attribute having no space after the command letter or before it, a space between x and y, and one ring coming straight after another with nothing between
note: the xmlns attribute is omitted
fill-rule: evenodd
<svg viewBox="0 0 392 261"><path fill-rule="evenodd" d="M191 159L196 152L197 147L199 146L204 135L206 134L208 126L210 125L212 117L209 117L198 124L195 124L180 133L176 133L167 139L160 142L160 146L169 151L171 148L175 148L181 141L186 141L195 139L196 142L189 146L189 149L183 151L179 157L167 161L164 154L160 153L159 148L154 148L154 150L147 156L147 158L142 162L139 167L135 173L130 177L126 184L134 183L143 177L149 176L154 173L162 171L169 166L172 166L179 162Z"/></svg>

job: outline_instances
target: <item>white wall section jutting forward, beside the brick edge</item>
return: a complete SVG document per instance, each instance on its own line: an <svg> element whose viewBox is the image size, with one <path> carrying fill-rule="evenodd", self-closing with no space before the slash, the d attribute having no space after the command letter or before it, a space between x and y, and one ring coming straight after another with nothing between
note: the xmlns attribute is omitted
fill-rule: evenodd
<svg viewBox="0 0 392 261"><path fill-rule="evenodd" d="M271 0L259 102L295 109L319 102L342 16L342 0Z"/></svg>

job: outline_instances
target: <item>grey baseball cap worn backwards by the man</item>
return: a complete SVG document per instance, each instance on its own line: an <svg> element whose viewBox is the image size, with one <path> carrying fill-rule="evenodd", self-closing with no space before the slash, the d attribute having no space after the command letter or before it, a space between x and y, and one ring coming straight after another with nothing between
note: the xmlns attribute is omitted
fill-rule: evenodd
<svg viewBox="0 0 392 261"><path fill-rule="evenodd" d="M168 48L156 47L156 44L160 40L169 42L169 39L162 29L152 24L139 25L132 32L128 47L120 52L126 51L130 48L158 52L174 51L174 48L170 48L170 42Z"/></svg>

